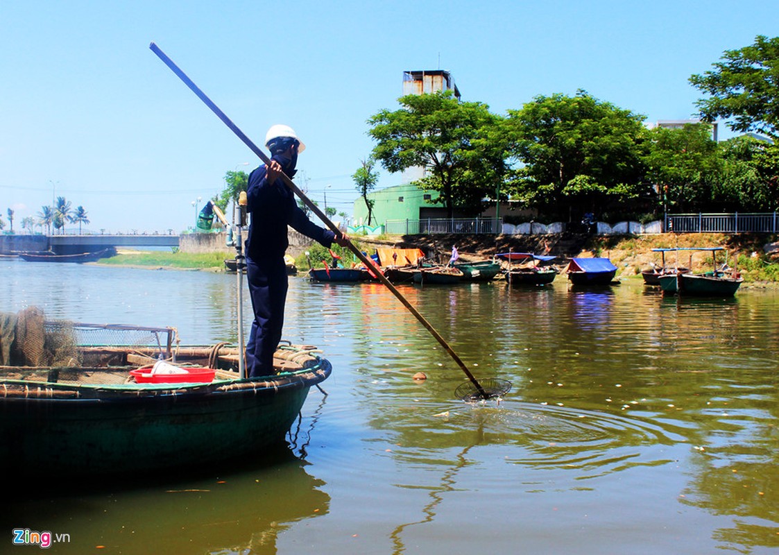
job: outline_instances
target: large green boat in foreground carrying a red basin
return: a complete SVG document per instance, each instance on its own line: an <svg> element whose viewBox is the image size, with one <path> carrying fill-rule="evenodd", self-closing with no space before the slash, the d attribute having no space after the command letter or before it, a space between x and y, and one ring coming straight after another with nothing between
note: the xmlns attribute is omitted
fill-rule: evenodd
<svg viewBox="0 0 779 555"><path fill-rule="evenodd" d="M261 456L284 441L309 388L332 370L310 345L282 345L276 374L245 380L232 370L238 349L228 345L77 351L79 364L69 366L0 366L5 475L139 474ZM160 354L178 369L210 368L213 380L132 380L132 370L136 379L154 376L146 371Z"/></svg>

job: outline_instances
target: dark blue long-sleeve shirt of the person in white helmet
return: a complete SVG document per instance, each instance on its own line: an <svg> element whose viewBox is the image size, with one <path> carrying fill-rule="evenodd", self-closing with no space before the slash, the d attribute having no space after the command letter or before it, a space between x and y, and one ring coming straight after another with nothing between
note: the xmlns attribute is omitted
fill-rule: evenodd
<svg viewBox="0 0 779 555"><path fill-rule="evenodd" d="M281 158L273 157L273 160L284 166ZM246 240L246 255L252 260L283 257L289 246L287 225L330 248L335 234L308 219L295 202L294 193L284 185L281 178L269 185L266 175L265 165L259 166L249 175L246 196L252 222Z"/></svg>

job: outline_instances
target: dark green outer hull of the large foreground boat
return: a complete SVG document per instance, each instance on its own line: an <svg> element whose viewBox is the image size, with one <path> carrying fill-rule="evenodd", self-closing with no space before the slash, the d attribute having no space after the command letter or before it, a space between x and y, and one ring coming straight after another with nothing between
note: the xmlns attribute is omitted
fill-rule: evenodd
<svg viewBox="0 0 779 555"><path fill-rule="evenodd" d="M4 380L0 470L135 474L258 453L284 440L309 388L330 372L330 363L319 359L312 369L282 376L200 386Z"/></svg>

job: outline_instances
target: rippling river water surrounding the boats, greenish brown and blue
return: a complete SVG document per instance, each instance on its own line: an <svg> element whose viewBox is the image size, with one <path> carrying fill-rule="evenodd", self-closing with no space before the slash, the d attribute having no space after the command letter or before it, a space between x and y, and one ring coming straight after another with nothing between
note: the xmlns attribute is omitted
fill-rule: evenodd
<svg viewBox="0 0 779 555"><path fill-rule="evenodd" d="M0 284L0 311L237 337L234 275L0 259ZM0 552L23 550L12 528L67 535L54 553L779 549L777 292L401 291L477 377L512 383L502 402L459 401L464 373L382 285L291 278L284 336L333 375L289 447L177 477L41 476L6 500Z"/></svg>

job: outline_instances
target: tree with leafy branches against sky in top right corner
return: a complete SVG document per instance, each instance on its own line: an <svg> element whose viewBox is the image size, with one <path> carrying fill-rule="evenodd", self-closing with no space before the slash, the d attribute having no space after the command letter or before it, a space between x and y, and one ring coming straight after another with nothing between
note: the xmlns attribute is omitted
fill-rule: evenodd
<svg viewBox="0 0 779 555"><path fill-rule="evenodd" d="M709 95L696 102L707 122L732 118L728 127L779 140L779 37L758 35L754 44L726 50L721 62L689 82Z"/></svg>

